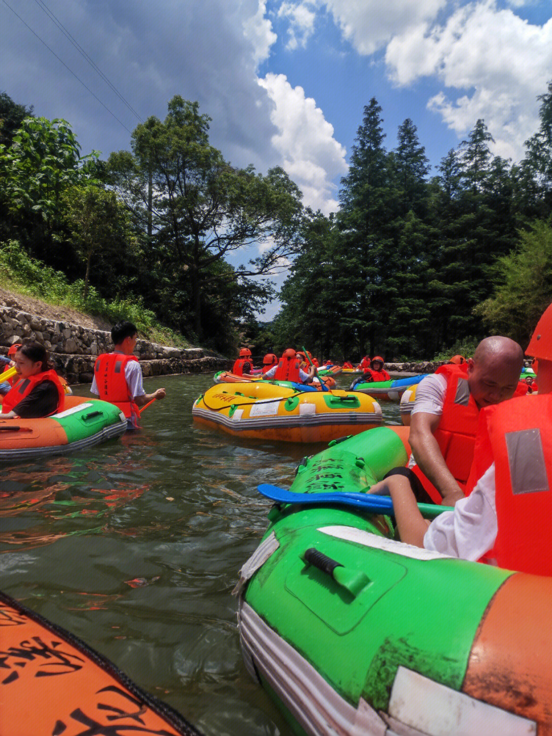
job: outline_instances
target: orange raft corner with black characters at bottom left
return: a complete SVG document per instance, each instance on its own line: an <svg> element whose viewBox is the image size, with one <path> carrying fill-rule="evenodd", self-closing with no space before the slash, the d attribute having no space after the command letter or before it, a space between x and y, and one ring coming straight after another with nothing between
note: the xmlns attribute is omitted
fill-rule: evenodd
<svg viewBox="0 0 552 736"><path fill-rule="evenodd" d="M108 659L0 592L6 736L201 736Z"/></svg>

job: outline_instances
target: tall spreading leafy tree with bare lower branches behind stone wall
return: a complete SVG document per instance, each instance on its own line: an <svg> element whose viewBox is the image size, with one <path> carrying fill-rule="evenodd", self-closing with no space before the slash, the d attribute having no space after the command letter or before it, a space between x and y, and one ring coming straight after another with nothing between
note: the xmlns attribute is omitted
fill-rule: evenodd
<svg viewBox="0 0 552 736"><path fill-rule="evenodd" d="M175 96L164 122L151 117L132 133L132 154L110 157L112 183L151 244L187 269L194 330L201 336L201 292L211 281L227 283L268 275L298 249L301 193L283 169L235 169L209 144L209 120L197 102ZM151 236L149 235L151 233ZM248 266L221 269L216 261L248 246L266 246Z"/></svg>

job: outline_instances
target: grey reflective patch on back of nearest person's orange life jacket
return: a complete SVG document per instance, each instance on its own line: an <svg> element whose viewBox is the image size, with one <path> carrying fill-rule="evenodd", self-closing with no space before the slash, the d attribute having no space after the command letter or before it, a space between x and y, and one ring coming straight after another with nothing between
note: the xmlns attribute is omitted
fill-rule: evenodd
<svg viewBox="0 0 552 736"><path fill-rule="evenodd" d="M506 448L512 493L537 493L550 490L540 429L506 432Z"/></svg>

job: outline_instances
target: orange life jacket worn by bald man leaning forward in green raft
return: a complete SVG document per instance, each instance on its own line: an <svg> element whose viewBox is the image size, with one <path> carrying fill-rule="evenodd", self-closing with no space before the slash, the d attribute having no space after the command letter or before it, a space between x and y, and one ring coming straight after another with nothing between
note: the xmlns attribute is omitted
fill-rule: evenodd
<svg viewBox="0 0 552 736"><path fill-rule="evenodd" d="M445 403L434 437L437 439L448 470L465 492L467 479L473 461L473 448L476 443L479 409L467 385L467 364L445 365L436 373L444 375L447 381ZM412 468L435 503L441 503L440 492L422 473L420 467Z"/></svg>

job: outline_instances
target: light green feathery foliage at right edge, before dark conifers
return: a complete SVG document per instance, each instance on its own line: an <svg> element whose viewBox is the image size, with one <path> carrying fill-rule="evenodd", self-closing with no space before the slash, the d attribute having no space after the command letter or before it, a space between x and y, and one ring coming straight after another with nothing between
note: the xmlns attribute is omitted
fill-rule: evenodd
<svg viewBox="0 0 552 736"><path fill-rule="evenodd" d="M520 232L515 251L498 259L492 297L476 308L492 329L526 347L552 302L552 227L537 221Z"/></svg>

